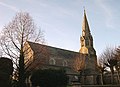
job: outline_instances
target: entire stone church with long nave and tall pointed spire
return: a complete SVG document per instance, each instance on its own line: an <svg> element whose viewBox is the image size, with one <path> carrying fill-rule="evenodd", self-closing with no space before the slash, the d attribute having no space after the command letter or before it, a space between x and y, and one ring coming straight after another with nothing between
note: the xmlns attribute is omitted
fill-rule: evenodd
<svg viewBox="0 0 120 87"><path fill-rule="evenodd" d="M80 43L79 52L74 52L27 41L24 45L24 49L27 49L25 51L27 71L32 73L40 68L64 68L70 77L70 82L80 75L81 84L97 84L97 56L85 10Z"/></svg>

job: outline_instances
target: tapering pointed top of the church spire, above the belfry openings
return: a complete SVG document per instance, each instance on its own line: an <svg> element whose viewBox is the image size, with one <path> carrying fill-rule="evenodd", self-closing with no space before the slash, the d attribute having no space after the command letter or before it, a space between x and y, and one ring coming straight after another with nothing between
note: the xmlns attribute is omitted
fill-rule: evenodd
<svg viewBox="0 0 120 87"><path fill-rule="evenodd" d="M84 9L83 22L82 22L82 32L84 32L84 33L90 33L89 24L88 24L88 21L87 21L87 16L86 16L85 9Z"/></svg>

